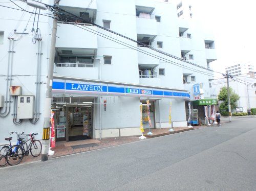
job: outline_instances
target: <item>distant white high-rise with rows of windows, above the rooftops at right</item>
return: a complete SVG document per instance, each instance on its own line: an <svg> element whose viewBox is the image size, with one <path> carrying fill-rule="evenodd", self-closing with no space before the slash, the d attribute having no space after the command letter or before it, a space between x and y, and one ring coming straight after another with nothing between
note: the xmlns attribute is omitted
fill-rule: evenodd
<svg viewBox="0 0 256 191"><path fill-rule="evenodd" d="M226 67L225 71L230 75L238 76L255 72L255 69L253 64L236 64Z"/></svg>

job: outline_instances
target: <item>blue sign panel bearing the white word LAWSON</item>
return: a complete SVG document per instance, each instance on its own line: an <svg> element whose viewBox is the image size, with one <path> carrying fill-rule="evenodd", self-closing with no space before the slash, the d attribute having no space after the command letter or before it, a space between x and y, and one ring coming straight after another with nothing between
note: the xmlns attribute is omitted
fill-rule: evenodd
<svg viewBox="0 0 256 191"><path fill-rule="evenodd" d="M66 83L66 90L108 92L106 86L95 84Z"/></svg>

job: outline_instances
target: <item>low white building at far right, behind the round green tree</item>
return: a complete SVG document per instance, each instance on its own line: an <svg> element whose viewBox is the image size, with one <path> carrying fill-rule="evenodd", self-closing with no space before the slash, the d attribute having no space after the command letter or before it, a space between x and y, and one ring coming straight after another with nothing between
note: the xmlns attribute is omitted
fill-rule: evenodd
<svg viewBox="0 0 256 191"><path fill-rule="evenodd" d="M254 76L253 78L250 75L237 76L229 80L229 86L239 95L240 99L237 102L237 106L242 107L243 112L256 108L256 79ZM212 81L211 97L217 98L222 87L227 87L227 79ZM236 112L236 110L233 110L233 112Z"/></svg>

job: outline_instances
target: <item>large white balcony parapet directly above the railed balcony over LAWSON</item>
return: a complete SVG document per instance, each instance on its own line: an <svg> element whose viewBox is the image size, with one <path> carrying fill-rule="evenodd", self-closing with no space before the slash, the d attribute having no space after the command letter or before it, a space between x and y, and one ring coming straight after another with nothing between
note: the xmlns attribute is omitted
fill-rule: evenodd
<svg viewBox="0 0 256 191"><path fill-rule="evenodd" d="M73 25L72 22L58 22L56 47L59 49L83 49L86 54L95 54L98 47L97 35ZM77 24L97 31L97 28L86 23Z"/></svg>

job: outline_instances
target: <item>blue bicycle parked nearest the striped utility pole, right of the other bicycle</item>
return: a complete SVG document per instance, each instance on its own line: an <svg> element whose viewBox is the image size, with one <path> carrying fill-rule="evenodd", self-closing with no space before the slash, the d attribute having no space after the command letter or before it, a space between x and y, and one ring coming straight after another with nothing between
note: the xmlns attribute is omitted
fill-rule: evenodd
<svg viewBox="0 0 256 191"><path fill-rule="evenodd" d="M35 135L38 135L38 133L17 134L17 144L9 148L6 154L6 161L9 165L19 164L23 157L28 156L29 153L33 157L38 157L41 154L42 144L40 140L35 139ZM28 139L28 136L30 136L30 139ZM28 141L30 141L29 145L27 144Z"/></svg>

